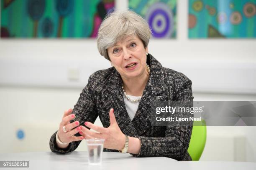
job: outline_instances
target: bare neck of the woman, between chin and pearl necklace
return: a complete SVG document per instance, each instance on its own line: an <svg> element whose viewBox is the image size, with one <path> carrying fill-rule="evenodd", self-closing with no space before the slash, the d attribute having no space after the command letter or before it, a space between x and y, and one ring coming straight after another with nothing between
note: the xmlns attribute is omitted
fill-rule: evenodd
<svg viewBox="0 0 256 170"><path fill-rule="evenodd" d="M142 74L139 77L125 79L122 77L123 80L123 88L127 95L133 96L142 96L143 91L146 87L148 82L149 74Z"/></svg>

